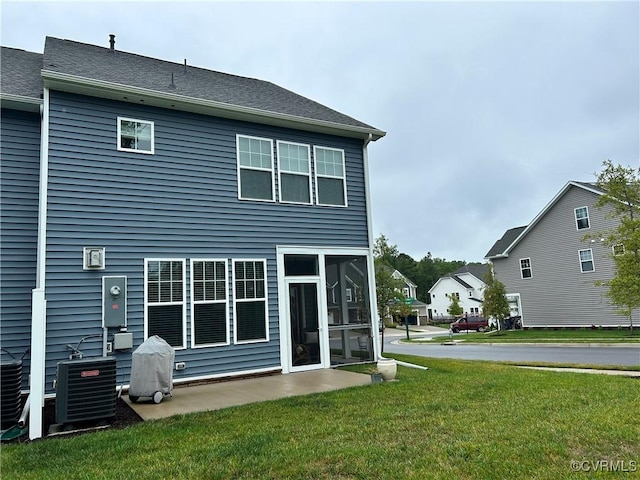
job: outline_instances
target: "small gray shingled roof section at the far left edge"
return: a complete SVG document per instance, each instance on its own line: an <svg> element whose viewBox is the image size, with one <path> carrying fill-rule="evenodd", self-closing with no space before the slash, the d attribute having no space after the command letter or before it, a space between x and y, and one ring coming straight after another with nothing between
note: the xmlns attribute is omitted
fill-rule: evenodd
<svg viewBox="0 0 640 480"><path fill-rule="evenodd" d="M2 94L37 100L42 98L42 54L2 47L0 61Z"/></svg>

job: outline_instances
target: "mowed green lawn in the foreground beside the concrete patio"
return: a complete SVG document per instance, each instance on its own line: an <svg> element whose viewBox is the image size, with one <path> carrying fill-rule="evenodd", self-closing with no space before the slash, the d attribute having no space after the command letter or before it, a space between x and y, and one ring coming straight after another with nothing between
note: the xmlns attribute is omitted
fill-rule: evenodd
<svg viewBox="0 0 640 480"><path fill-rule="evenodd" d="M0 473L37 480L564 479L575 477L574 460L640 461L638 379L390 356L429 370L399 367L394 382L3 445Z"/></svg>

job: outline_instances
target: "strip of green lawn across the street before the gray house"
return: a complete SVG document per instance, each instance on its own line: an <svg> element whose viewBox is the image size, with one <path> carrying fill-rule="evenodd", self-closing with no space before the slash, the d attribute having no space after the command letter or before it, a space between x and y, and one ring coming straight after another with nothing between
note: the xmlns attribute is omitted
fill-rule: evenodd
<svg viewBox="0 0 640 480"><path fill-rule="evenodd" d="M411 341L420 341L417 334ZM640 328L501 330L487 333L462 332L454 340L474 343L640 343ZM449 340L449 335L434 337L434 342Z"/></svg>

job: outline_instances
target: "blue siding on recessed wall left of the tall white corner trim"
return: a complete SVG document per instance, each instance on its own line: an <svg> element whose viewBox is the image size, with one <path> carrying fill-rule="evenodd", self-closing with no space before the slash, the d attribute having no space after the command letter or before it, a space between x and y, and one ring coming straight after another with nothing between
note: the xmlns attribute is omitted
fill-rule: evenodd
<svg viewBox="0 0 640 480"><path fill-rule="evenodd" d="M0 135L0 346L20 358L30 347L31 290L36 286L40 116L2 110ZM2 359L7 359L6 354ZM29 355L24 357L27 388Z"/></svg>

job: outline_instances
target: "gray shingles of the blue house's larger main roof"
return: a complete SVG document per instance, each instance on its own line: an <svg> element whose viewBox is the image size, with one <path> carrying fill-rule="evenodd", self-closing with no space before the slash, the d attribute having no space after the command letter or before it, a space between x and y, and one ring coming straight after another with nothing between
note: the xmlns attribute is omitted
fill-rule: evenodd
<svg viewBox="0 0 640 480"><path fill-rule="evenodd" d="M280 115L376 131L374 127L263 80L229 75L108 47L47 37L43 70ZM173 83L173 86L172 86Z"/></svg>

